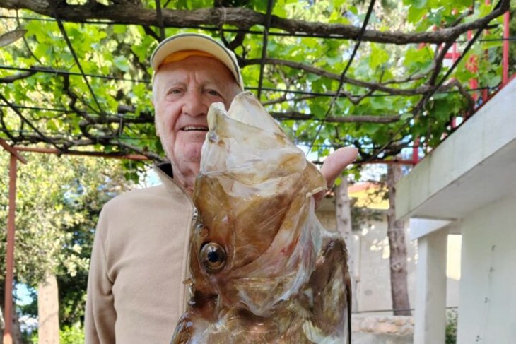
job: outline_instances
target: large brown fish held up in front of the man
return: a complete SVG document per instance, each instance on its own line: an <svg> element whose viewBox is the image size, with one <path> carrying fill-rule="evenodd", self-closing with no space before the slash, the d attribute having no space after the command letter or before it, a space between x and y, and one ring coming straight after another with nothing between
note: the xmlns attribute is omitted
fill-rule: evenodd
<svg viewBox="0 0 516 344"><path fill-rule="evenodd" d="M172 343L346 343L344 239L312 195L325 189L252 93L211 105L194 187L191 299Z"/></svg>

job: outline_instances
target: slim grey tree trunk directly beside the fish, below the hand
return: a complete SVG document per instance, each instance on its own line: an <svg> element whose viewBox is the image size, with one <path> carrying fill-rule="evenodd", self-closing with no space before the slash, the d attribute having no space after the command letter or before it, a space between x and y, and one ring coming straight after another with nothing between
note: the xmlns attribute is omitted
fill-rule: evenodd
<svg viewBox="0 0 516 344"><path fill-rule="evenodd" d="M355 262L355 240L353 239L353 232L351 227L351 203L348 196L348 179L342 178L339 186L335 187L335 216L336 216L336 230L339 232L348 249L348 269L351 275L351 310L356 312L358 304L356 298L356 283L358 282L358 275Z"/></svg>

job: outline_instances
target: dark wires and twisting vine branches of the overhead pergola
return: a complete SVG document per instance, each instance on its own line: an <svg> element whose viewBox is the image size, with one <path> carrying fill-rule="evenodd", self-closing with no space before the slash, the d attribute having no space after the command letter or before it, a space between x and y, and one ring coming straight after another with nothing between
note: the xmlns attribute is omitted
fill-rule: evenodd
<svg viewBox="0 0 516 344"><path fill-rule="evenodd" d="M310 23L303 20L278 18L272 15L272 3L269 0L267 2L266 13L259 13L252 11L247 8L229 8L229 7L214 7L214 8L201 8L194 11L179 11L171 10L167 8L170 1L166 1L165 4L161 4L160 1L155 1L155 7L143 8L139 1L136 0L117 0L112 1L110 5L102 5L97 3L95 0L88 1L82 5L69 5L66 2L45 0L45 1L34 1L34 0L0 0L0 7L4 8L26 8L35 13L40 13L44 16L49 16L52 19L40 19L37 20L54 20L59 26L61 36L64 38L66 45L69 47L69 51L76 61L78 67L78 73L70 73L69 71L60 71L52 68L51 66L31 66L27 68L18 68L17 66L0 66L1 69L18 70L20 73L16 75L0 78L0 83L10 83L23 78L28 78L35 73L54 73L56 76L64 78L66 85L69 84L69 77L71 75L81 76L82 80L88 86L90 101L89 107L93 113L88 113L84 109L80 109L76 106L77 95L73 94L69 89L69 96L74 98L74 104L69 108L54 108L54 107L41 107L41 106L27 106L23 104L15 104L9 102L0 92L0 112L1 107L6 107L10 111L14 112L19 117L20 121L23 122L24 126L30 128L32 132L20 133L16 131L9 132L6 126L0 127L0 130L6 134L13 144L20 145L32 145L34 143L45 143L47 146L59 150L61 153L68 151L74 151L76 148L79 150L85 150L85 146L93 146L95 143L100 143L103 146L111 146L116 148L115 155L127 155L130 153L138 153L148 156L151 160L160 160L160 155L157 155L152 150L141 148L141 143L132 144L124 141L122 137L122 130L115 131L110 126L119 124L120 128L124 126L138 126L140 124L150 124L153 122L153 115L151 113L138 114L137 117L131 116L131 112L134 112L134 108L120 105L117 109L117 113L108 113L100 106L98 97L90 86L88 80L92 78L105 78L107 80L120 80L113 76L99 76L85 73L81 66L81 61L74 51L74 45L69 39L69 35L64 27L65 22L75 23L86 23L87 25L143 25L145 31L151 37L156 40L163 40L165 37L165 28L199 28L208 32L219 32L221 39L230 49L235 49L238 45L241 45L245 39L245 35L262 35L262 54L258 59L247 59L245 56L238 56L239 64L243 68L245 66L257 65L259 66L259 80L257 85L248 85L248 90L255 90L259 97L262 97L264 93L274 92L276 94L283 93L281 97L273 100L264 101L264 105L270 105L278 102L286 102L294 99L296 102L303 99L310 99L313 97L330 97L331 102L329 107L323 116L320 114L307 114L305 112L298 111L284 111L284 112L271 112L273 117L276 119L283 120L295 120L295 121L318 121L317 134L321 130L322 126L327 123L377 123L377 124L391 124L397 121L402 123L399 130L392 134L392 140L382 144L382 146L376 146L371 148L372 152L363 154L363 160L375 160L377 158L386 158L389 155L394 155L395 152L399 151L399 145L397 143L397 136L404 131L406 128L411 126L411 121L420 117L424 107L428 100L432 98L436 93L443 92L458 92L467 100L469 104L469 112L473 111L475 106L475 95L476 91L482 90L483 95L488 96L488 91L492 91L492 88L486 87L471 87L465 89L457 81L451 81L450 76L452 71L455 70L460 61L467 54L468 50L474 45L475 42L480 40L481 33L489 28L491 20L501 16L504 12L509 9L509 0L500 0L497 5L493 7L493 11L488 13L486 16L478 18L476 20L469 21L467 23L461 23L464 18L471 15L473 11L470 9L464 13L460 13L457 16L455 23L452 23L449 27L441 28L433 32L381 32L375 30L368 30L368 21L370 13L373 11L375 1L370 1L368 13L363 19L360 27L353 25L325 25L324 23ZM488 3L489 1L486 1ZM222 4L223 1L216 1L216 4ZM124 16L123 13L131 12L131 16ZM16 20L20 20L16 16ZM261 25L263 30L252 29L253 25ZM157 28L158 32L151 30L151 26ZM229 26L229 27L228 27ZM236 28L235 28L236 27ZM278 32L283 30L283 32ZM231 42L225 40L224 33L231 32L235 35L235 38ZM471 32L471 37L467 41L459 40L459 37L465 33ZM302 64L294 61L288 61L284 59L274 59L267 56L267 46L269 44L269 37L317 37L329 40L353 40L355 47L351 57L348 59L346 67L341 73L332 73L325 71L324 69L318 69L309 64ZM508 35L501 38L500 40L510 40ZM426 83L416 88L399 88L392 87L392 85L403 85L406 82L414 81L419 76L409 76L406 80L401 81L379 81L370 82L362 81L350 78L347 76L348 68L353 64L354 55L356 50L360 46L361 42L375 42L382 44L394 44L394 45L406 45L406 44L419 44L419 45L435 45L435 57L433 59L433 69L428 72L428 79ZM467 43L466 47L462 49L459 54L454 52L453 64L450 69L445 73L444 76L440 76L442 70L442 63L445 59L448 59L447 54L452 47L455 49L457 43ZM456 50L456 49L455 49ZM264 66L269 65L274 68L290 68L299 70L303 73L311 73L315 76L329 78L330 80L339 81L339 85L336 90L331 92L311 92L310 90L295 90L291 87L287 88L271 88L264 87ZM150 78L144 78L144 80L133 80L124 78L124 82L136 82L136 83L149 83ZM364 92L360 94L349 93L342 89L343 84L355 85L358 88L363 88ZM473 93L473 95L471 95ZM299 95L296 98L288 99L288 95ZM334 103L337 99L347 98L353 104L358 105L361 100L368 97L389 97L393 95L419 95L420 100L414 104L411 109L406 109L405 113L394 113L394 114L382 114L378 116L373 115L353 115L347 114L346 116L336 116L332 112ZM483 99L485 102L486 99ZM37 126L33 121L28 118L24 111L46 111L46 112L57 112L61 114L76 114L82 117L84 120L81 124L82 134L74 137L71 135L49 135L37 129ZM104 134L92 135L90 129L92 127L102 126L104 128ZM317 137L317 135L316 135ZM314 146L316 137L312 138L310 148ZM414 138L413 143L404 143L404 147L410 147L414 149L423 147L426 143L420 143L418 138Z"/></svg>

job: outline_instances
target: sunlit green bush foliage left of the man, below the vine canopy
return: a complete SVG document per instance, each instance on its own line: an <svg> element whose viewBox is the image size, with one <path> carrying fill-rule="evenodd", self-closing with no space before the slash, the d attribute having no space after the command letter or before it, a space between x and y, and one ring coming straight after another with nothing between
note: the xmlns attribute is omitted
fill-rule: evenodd
<svg viewBox="0 0 516 344"><path fill-rule="evenodd" d="M37 288L47 272L57 275L61 326L81 324L93 234L103 203L127 189L121 162L95 158L25 155L18 165L15 280ZM1 165L8 155L0 154ZM8 176L0 179L0 227L6 227ZM5 271L5 232L0 268ZM23 307L37 316L37 297ZM78 342L76 342L78 343Z"/></svg>

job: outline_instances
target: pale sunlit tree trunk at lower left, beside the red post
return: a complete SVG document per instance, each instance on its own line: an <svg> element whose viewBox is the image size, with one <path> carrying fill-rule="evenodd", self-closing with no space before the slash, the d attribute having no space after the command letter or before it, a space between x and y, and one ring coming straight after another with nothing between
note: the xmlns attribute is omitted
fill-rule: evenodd
<svg viewBox="0 0 516 344"><path fill-rule="evenodd" d="M59 344L59 297L56 276L47 273L37 287L38 344Z"/></svg>

